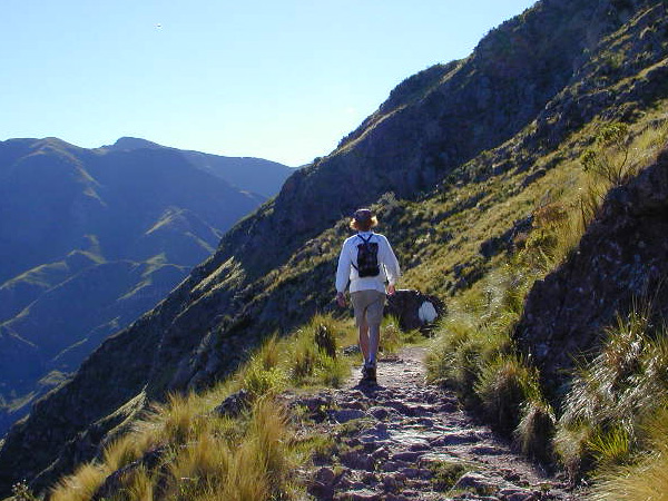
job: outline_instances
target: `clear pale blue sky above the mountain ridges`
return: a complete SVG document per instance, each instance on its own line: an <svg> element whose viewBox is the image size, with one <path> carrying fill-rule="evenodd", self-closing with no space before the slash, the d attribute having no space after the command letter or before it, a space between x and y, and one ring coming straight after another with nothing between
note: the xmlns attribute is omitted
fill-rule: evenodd
<svg viewBox="0 0 668 501"><path fill-rule="evenodd" d="M532 0L2 0L0 140L121 136L298 166Z"/></svg>

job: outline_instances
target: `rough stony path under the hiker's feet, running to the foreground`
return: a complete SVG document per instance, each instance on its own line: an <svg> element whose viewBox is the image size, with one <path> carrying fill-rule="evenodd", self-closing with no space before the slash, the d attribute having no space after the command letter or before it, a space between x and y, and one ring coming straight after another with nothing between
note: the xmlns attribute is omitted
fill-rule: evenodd
<svg viewBox="0 0 668 501"><path fill-rule="evenodd" d="M566 485L514 453L425 384L424 348L381 361L379 384L357 371L340 390L294 397L305 432L333 434L333 451L303 472L318 500L576 500Z"/></svg>

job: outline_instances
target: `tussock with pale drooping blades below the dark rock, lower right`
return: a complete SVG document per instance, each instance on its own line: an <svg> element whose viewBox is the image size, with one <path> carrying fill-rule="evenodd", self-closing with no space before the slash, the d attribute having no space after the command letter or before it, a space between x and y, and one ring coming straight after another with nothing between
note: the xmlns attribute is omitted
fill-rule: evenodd
<svg viewBox="0 0 668 501"><path fill-rule="evenodd" d="M641 423L662 405L668 390L666 334L666 327L652 325L647 304L636 306L608 330L601 353L579 370L556 441L572 474L623 464L640 448Z"/></svg>

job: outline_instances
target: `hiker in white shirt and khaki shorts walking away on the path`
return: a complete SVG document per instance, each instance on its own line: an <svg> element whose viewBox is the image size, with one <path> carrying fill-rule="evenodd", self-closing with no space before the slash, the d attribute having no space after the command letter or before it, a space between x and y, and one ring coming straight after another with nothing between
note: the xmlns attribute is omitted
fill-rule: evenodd
<svg viewBox="0 0 668 501"><path fill-rule="evenodd" d="M345 307L344 292L350 281L351 302L355 324L360 331L360 350L364 356L362 380L376 381L376 355L381 335L381 321L387 294L394 294L400 276L399 262L383 235L371 228L379 224L367 208L355 212L351 228L357 232L343 243L336 268L336 302Z"/></svg>

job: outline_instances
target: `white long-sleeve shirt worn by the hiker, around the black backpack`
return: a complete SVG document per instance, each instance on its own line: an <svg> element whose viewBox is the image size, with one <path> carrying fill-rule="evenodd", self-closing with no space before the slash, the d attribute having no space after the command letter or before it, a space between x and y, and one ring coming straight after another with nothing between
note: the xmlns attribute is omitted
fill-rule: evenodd
<svg viewBox="0 0 668 501"><path fill-rule="evenodd" d="M363 236L364 239L371 237L370 242L379 244L379 267L381 268L381 273L377 276L360 277L360 274L355 269L355 266L357 266L357 245L362 244L358 235ZM384 293L385 281L390 285L394 285L400 275L399 261L396 261L396 256L387 238L384 235L373 232L360 232L346 238L343 243L338 256L338 266L336 267L336 292L344 292L350 281L352 293L357 291L379 291Z"/></svg>

